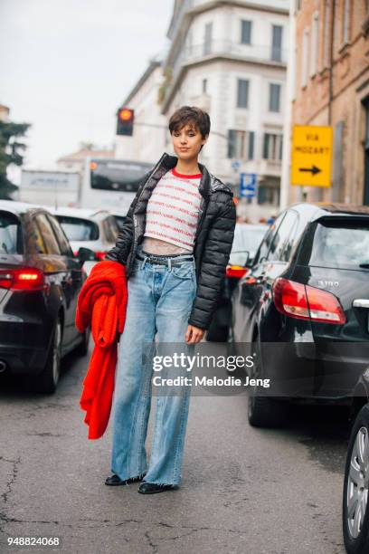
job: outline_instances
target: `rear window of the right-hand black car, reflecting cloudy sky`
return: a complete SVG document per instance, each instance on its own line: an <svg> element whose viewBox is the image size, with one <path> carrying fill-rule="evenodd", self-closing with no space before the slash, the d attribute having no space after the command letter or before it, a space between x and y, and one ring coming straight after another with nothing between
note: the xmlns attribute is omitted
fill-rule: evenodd
<svg viewBox="0 0 369 554"><path fill-rule="evenodd" d="M369 220L319 222L308 265L369 269Z"/></svg>

